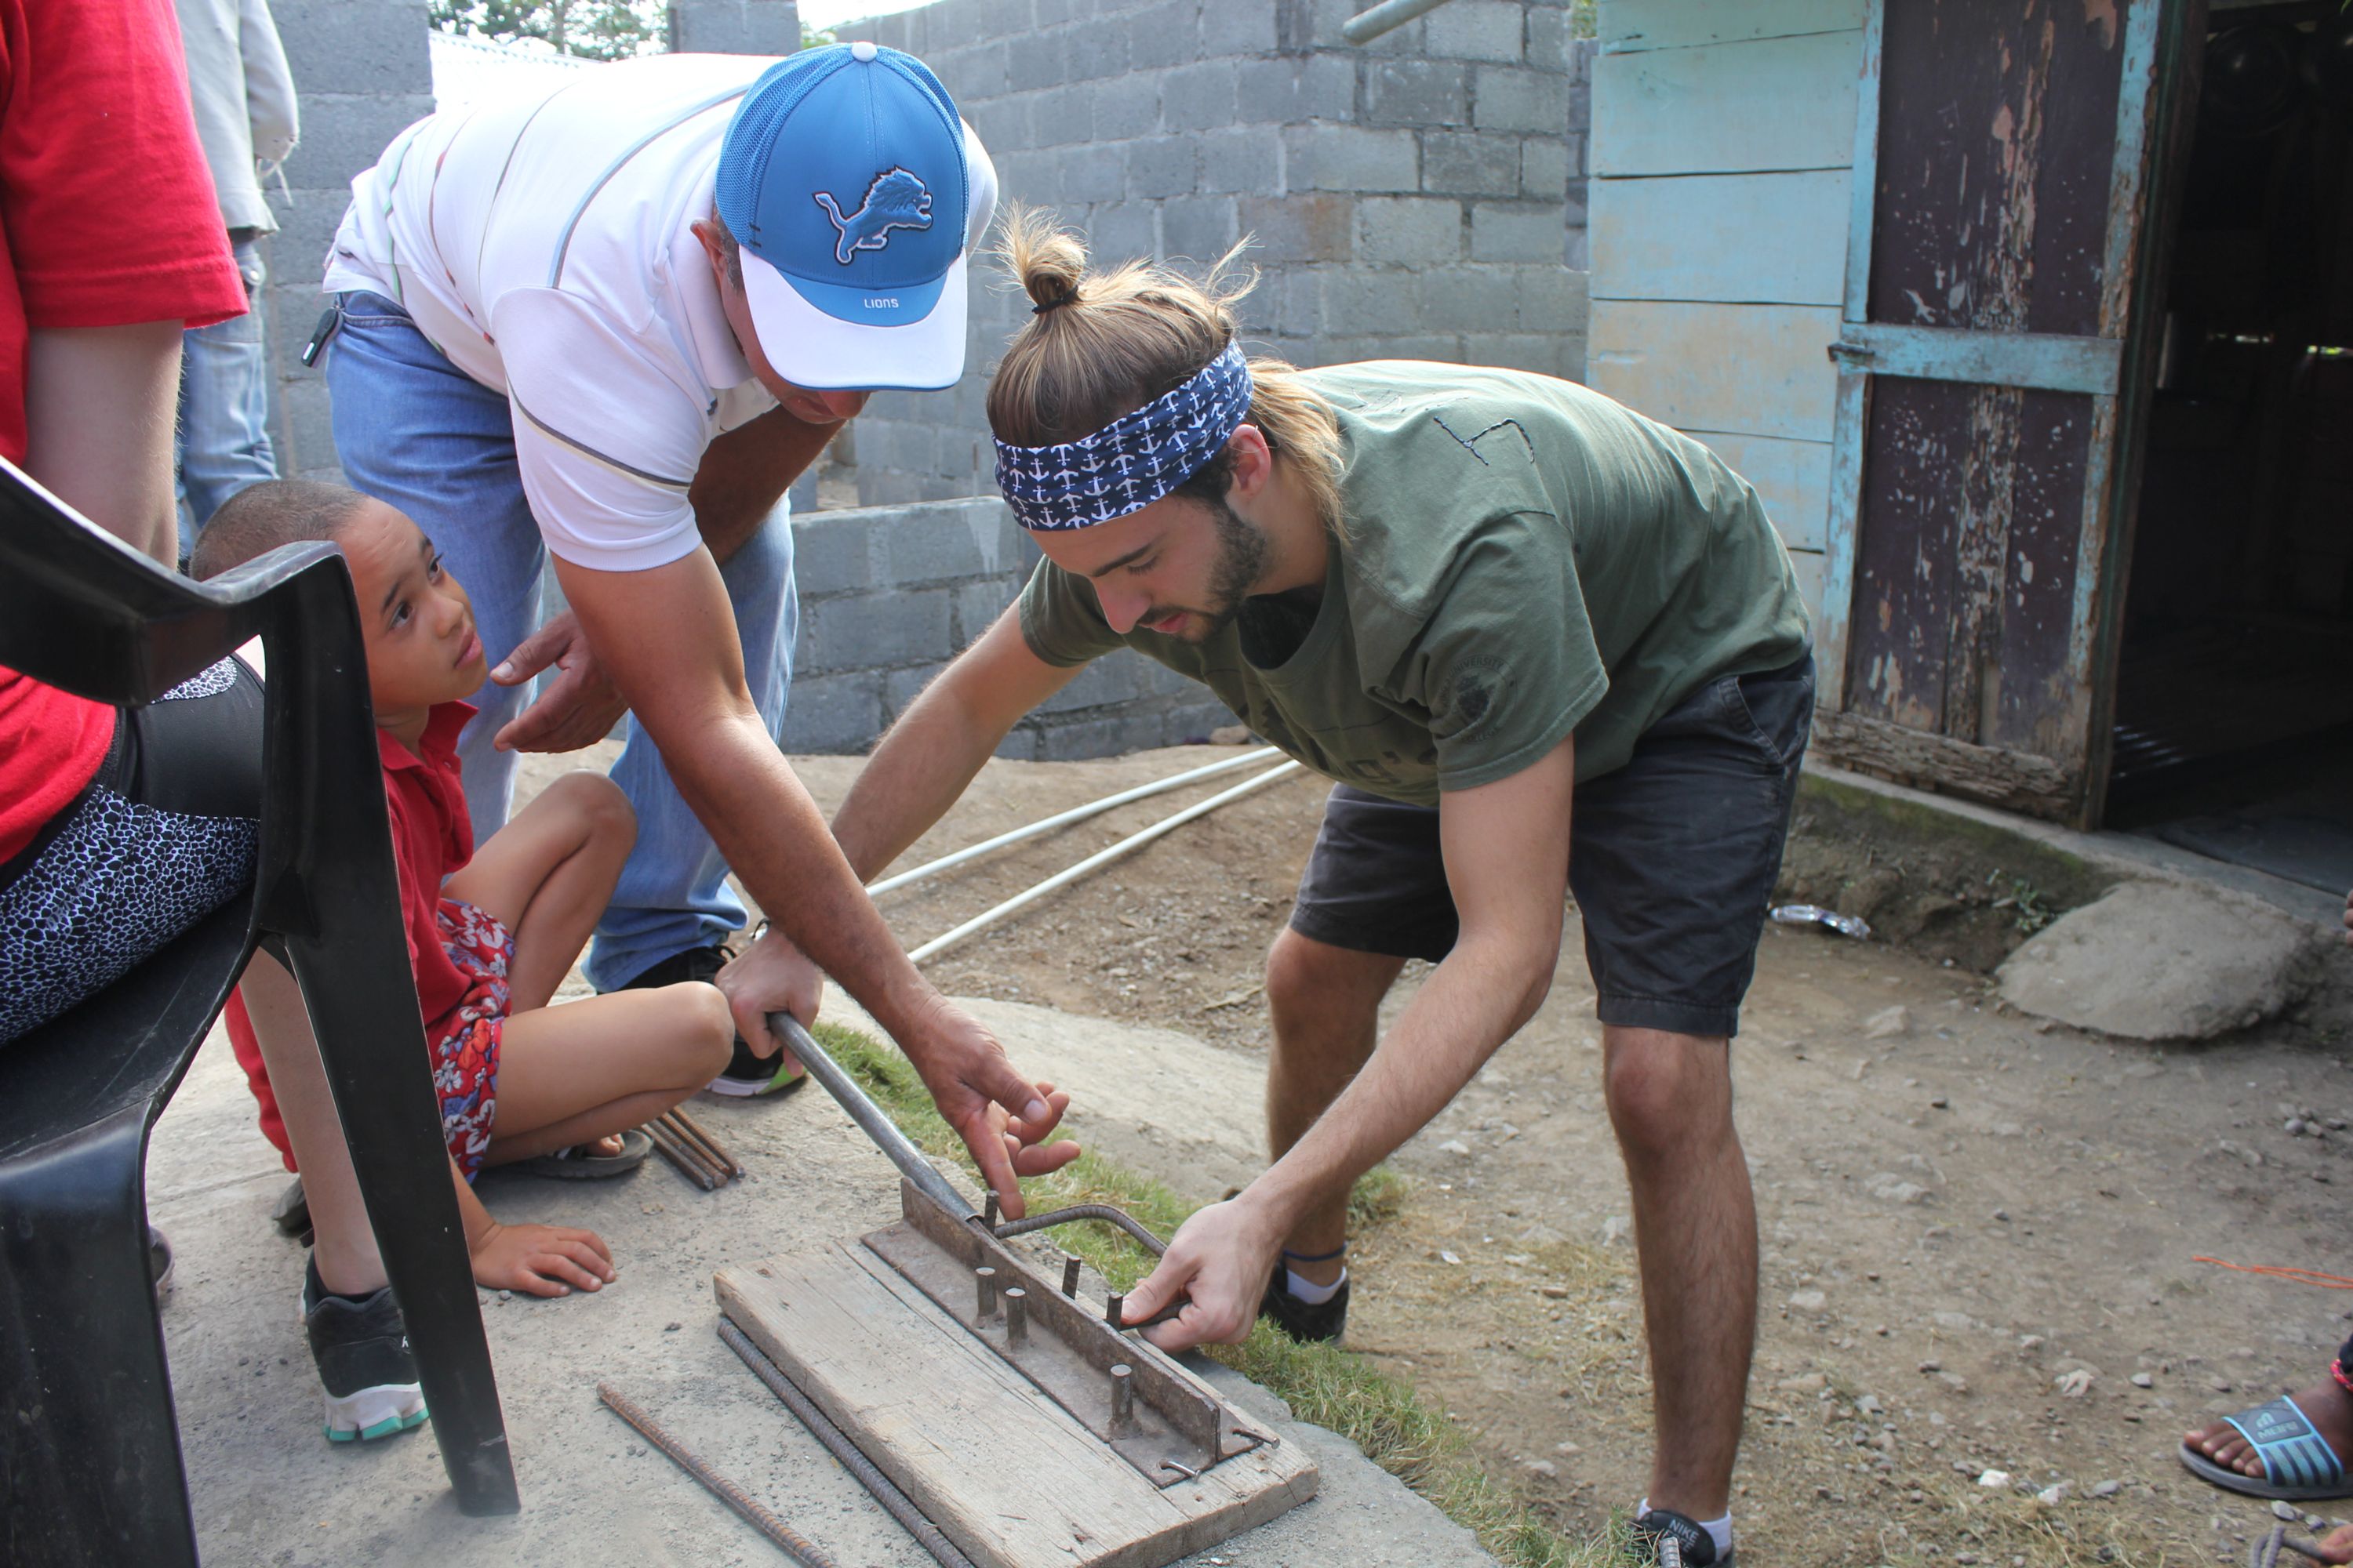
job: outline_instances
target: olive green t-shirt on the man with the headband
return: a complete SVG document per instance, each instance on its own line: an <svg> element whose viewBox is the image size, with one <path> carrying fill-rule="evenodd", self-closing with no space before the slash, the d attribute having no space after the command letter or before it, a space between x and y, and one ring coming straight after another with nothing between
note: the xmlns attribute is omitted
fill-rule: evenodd
<svg viewBox="0 0 2353 1568"><path fill-rule="evenodd" d="M1577 778L1598 778L1701 684L1805 654L1781 538L1699 442L1551 376L1304 374L1346 449L1320 602L1249 599L1202 644L1120 637L1092 583L1038 562L1021 592L1038 658L1134 646L1318 773L1428 806L1569 733Z"/></svg>

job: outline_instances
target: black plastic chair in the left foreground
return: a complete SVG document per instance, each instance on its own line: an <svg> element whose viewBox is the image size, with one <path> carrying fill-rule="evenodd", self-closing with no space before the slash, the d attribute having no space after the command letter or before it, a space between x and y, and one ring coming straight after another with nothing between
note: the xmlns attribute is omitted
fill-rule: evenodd
<svg viewBox="0 0 2353 1568"><path fill-rule="evenodd" d="M146 1140L264 936L318 1032L367 1215L468 1514L522 1507L449 1157L384 809L351 571L287 545L191 583L0 461L0 665L155 701L261 637L254 891L71 1013L0 1046L0 1563L195 1563Z"/></svg>

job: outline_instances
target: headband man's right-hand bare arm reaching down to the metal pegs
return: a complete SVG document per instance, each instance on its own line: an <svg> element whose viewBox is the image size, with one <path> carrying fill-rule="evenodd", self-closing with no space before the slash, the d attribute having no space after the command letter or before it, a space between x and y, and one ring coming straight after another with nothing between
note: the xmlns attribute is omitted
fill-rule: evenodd
<svg viewBox="0 0 2353 1568"><path fill-rule="evenodd" d="M1569 886L1572 748L1562 741L1511 778L1440 795L1438 837L1461 912L1454 950L1308 1135L1240 1197L1186 1220L1127 1295L1129 1321L1179 1293L1193 1298L1146 1335L1155 1345L1188 1349L1249 1333L1299 1218L1421 1131L1544 1004Z"/></svg>

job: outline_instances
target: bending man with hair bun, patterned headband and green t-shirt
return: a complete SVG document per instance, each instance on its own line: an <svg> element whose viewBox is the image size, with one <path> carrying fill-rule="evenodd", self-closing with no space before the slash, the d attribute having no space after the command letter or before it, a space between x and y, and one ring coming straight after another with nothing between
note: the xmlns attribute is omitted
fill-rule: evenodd
<svg viewBox="0 0 2353 1568"><path fill-rule="evenodd" d="M1633 1185L1657 1380L1645 1549L1729 1563L1755 1206L1729 1037L1812 712L1807 618L1755 491L1586 388L1454 364L1245 362L1247 284L1085 270L1016 223L1038 317L988 395L1045 550L835 820L868 875L998 738L1120 646L1334 780L1266 964L1275 1164L1127 1298L1176 1349L1261 1314L1339 1338L1351 1182L1544 1001L1574 889ZM1377 1034L1405 959L1438 966Z"/></svg>

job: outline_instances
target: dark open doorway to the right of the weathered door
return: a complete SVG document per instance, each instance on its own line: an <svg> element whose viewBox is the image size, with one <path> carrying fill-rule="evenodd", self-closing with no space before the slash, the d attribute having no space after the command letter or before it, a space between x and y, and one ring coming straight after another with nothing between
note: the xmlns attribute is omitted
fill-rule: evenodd
<svg viewBox="0 0 2353 1568"><path fill-rule="evenodd" d="M2106 823L2353 886L2353 16L2214 0Z"/></svg>

